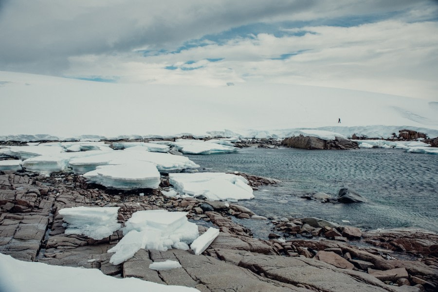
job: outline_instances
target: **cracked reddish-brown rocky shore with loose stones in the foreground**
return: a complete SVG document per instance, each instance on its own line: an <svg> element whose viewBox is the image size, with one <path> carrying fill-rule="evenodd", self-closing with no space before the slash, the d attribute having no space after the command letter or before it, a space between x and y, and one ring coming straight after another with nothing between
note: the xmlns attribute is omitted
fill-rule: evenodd
<svg viewBox="0 0 438 292"><path fill-rule="evenodd" d="M244 176L253 188L277 183ZM157 190L120 192L87 184L83 177L69 173L45 177L1 172L0 253L25 261L95 268L114 277L137 277L205 292L437 289L435 233L411 229L361 232L321 219L281 218L266 220L272 224L273 239L262 240L231 220L232 216L265 219L262 216L235 203L165 197L161 190L168 185L163 177ZM58 211L73 206L118 206L121 224L140 210L186 211L189 220L199 223L201 233L211 225L219 227L220 233L200 256L190 250L140 250L124 263L112 265L108 250L123 237L122 233L116 231L102 240L65 235ZM179 261L182 268L148 268L149 263L166 259Z"/></svg>

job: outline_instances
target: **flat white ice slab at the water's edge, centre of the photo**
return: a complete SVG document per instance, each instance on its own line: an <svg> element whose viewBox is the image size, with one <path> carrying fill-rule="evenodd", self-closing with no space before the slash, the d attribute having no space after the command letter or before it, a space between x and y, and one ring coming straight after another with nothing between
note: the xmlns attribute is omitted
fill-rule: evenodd
<svg viewBox="0 0 438 292"><path fill-rule="evenodd" d="M171 173L169 182L180 193L192 197L204 196L210 201L253 199L248 181L230 173Z"/></svg>

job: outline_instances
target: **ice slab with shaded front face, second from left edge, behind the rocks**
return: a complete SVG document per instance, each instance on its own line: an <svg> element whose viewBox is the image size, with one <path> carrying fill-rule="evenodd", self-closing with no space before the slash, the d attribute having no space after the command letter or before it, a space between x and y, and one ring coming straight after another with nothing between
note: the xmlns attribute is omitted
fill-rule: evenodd
<svg viewBox="0 0 438 292"><path fill-rule="evenodd" d="M41 174L50 174L52 172L63 171L68 167L69 159L62 156L41 155L32 157L23 161L22 166L29 171L39 172Z"/></svg>

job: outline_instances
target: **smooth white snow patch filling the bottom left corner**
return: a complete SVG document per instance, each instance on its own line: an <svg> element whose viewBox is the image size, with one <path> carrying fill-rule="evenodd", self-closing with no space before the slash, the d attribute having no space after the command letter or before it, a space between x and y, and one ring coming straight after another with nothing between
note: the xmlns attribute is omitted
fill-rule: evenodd
<svg viewBox="0 0 438 292"><path fill-rule="evenodd" d="M54 281L59 279L59 281ZM62 279L62 280L61 280ZM137 278L115 278L98 269L25 262L0 254L0 291L7 292L199 292L195 288L162 285Z"/></svg>

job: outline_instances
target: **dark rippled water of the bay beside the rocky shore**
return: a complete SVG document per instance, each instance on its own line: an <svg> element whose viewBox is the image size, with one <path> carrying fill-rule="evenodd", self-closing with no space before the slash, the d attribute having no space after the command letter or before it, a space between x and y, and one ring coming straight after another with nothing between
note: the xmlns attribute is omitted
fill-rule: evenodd
<svg viewBox="0 0 438 292"><path fill-rule="evenodd" d="M420 227L438 232L438 155L400 149L348 151L246 148L235 154L189 155L202 171L241 171L282 180L239 201L265 217L319 217L362 229ZM349 187L368 203L330 204L301 199ZM255 235L266 221L239 220ZM345 223L344 223L345 224ZM264 237L264 236L263 236Z"/></svg>

